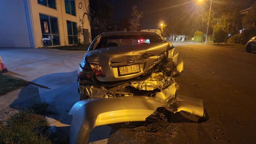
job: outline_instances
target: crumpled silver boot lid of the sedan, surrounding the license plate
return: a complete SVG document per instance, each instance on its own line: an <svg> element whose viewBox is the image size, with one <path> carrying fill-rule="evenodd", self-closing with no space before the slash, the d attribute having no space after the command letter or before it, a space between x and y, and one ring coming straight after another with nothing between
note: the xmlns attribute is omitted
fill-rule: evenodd
<svg viewBox="0 0 256 144"><path fill-rule="evenodd" d="M85 56L89 62L97 63L102 66L104 73L107 74L105 77L96 76L98 81L120 81L135 78L146 72L158 58L154 55L164 54L168 45L168 42L158 42L150 44L115 46L90 50L85 54ZM111 67L111 63L123 63L129 59L138 61L141 59L141 56L145 54L151 55L151 57L145 57L147 59L144 60L143 63L140 63L141 72L139 73L126 76L118 76L117 67Z"/></svg>

